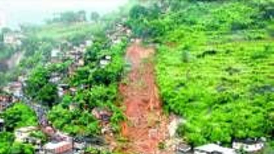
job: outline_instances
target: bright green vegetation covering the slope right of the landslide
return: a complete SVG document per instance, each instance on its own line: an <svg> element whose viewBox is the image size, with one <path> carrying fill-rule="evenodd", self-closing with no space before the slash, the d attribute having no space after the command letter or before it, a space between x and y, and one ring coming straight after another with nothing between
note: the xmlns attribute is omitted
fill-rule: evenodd
<svg viewBox="0 0 274 154"><path fill-rule="evenodd" d="M187 120L192 145L273 137L271 1L135 6L128 25L158 43L156 75L167 111ZM182 9L183 8L183 9Z"/></svg>

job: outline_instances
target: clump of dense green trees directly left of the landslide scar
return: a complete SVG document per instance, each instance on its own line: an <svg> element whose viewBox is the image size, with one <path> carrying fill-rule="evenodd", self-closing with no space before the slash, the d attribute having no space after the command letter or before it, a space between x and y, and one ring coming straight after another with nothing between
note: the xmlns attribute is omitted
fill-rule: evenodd
<svg viewBox="0 0 274 154"><path fill-rule="evenodd" d="M100 40L100 41L99 41ZM121 44L106 46L106 39L99 39L87 49L85 55L86 66L79 68L70 78L69 84L79 88L76 95L64 96L62 103L49 113L49 119L56 128L72 135L99 134L99 123L90 114L92 109L99 107L112 112L110 119L114 131L119 131L119 122L124 119L119 109L118 82L123 73L124 61L122 55L126 41ZM101 68L99 62L106 55L111 56L111 63ZM69 105L75 103L77 108L69 110Z"/></svg>

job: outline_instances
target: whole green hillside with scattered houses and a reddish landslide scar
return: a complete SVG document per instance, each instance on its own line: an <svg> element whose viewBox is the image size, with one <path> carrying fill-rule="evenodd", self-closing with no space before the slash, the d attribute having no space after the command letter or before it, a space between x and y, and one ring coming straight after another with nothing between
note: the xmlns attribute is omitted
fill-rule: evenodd
<svg viewBox="0 0 274 154"><path fill-rule="evenodd" d="M0 145L10 147L0 154L40 151L13 135L37 123L43 144L84 145L70 152L171 154L209 143L236 151L234 141L252 140L272 154L273 0L130 2L92 21L67 12L22 27L24 55L0 72ZM10 46L0 60L16 55Z"/></svg>

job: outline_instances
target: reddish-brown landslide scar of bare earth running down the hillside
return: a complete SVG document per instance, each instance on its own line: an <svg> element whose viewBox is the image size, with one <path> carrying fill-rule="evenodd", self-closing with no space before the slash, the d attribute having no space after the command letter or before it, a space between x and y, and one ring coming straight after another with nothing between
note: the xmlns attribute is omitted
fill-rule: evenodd
<svg viewBox="0 0 274 154"><path fill-rule="evenodd" d="M122 135L129 139L124 147L125 153L170 153L158 148L159 143L169 136L167 125L170 119L163 115L155 84L153 55L153 48L143 48L138 42L127 49L131 71L127 82L120 84L128 118L122 126Z"/></svg>

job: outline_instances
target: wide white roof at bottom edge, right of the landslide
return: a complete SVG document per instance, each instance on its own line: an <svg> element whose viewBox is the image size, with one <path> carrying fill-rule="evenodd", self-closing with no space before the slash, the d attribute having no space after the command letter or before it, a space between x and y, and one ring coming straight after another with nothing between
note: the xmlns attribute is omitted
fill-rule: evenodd
<svg viewBox="0 0 274 154"><path fill-rule="evenodd" d="M194 154L236 154L236 151L231 148L221 147L217 144L206 144L194 148Z"/></svg>

